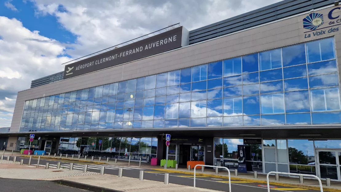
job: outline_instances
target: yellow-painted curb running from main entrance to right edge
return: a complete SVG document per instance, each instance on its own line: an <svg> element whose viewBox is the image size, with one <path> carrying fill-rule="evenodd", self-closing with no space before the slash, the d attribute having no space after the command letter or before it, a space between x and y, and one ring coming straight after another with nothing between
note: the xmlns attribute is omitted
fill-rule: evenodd
<svg viewBox="0 0 341 192"><path fill-rule="evenodd" d="M176 171L176 170L169 170L169 169L153 169L156 171L167 171L170 173L181 173L181 174L187 174L187 175L194 175L192 172L186 172L186 171ZM205 174L205 173L196 173L195 175L197 176L207 176L207 177L215 177L215 178L222 178L222 179L228 179L227 176L221 176L221 175L211 175L211 174ZM256 180L256 179L245 179L245 178L239 178L239 177L231 177L232 180L237 180L237 181L249 181L253 183L263 183L267 184L266 181L263 180ZM289 183L281 183L281 182L273 182L269 181L269 184L273 185L278 185L278 186L283 186L283 187L292 187L292 188L301 188L301 189L311 189L311 190L317 190L320 191L320 187L313 187L313 186L305 186L305 185L300 185L300 184L289 184ZM340 189L331 189L331 188L324 188L323 191L329 191L329 192L341 192Z"/></svg>

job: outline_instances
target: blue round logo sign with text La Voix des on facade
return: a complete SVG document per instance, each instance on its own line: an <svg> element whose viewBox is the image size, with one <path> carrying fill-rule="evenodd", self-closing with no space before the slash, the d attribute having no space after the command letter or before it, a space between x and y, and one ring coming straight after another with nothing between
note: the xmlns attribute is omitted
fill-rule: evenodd
<svg viewBox="0 0 341 192"><path fill-rule="evenodd" d="M304 38L316 38L339 31L341 7L320 10L303 18Z"/></svg>

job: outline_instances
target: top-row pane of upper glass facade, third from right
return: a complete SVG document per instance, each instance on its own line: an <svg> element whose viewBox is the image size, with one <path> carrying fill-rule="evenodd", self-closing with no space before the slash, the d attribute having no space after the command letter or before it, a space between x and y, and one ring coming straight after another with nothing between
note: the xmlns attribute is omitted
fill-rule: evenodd
<svg viewBox="0 0 341 192"><path fill-rule="evenodd" d="M261 71L281 68L281 49L269 50L259 53L259 65Z"/></svg>

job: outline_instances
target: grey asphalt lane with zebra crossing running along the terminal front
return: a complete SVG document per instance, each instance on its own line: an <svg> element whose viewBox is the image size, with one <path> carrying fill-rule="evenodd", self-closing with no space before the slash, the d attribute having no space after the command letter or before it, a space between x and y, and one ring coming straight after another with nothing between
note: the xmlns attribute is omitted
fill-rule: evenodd
<svg viewBox="0 0 341 192"><path fill-rule="evenodd" d="M13 157L11 157L10 160ZM17 161L20 161L20 157L17 158ZM28 164L28 158L24 159L24 164ZM31 165L36 165L37 158L32 158ZM83 170L84 164L88 164L88 171L91 172L100 172L101 166L105 166L105 174L110 175L118 175L118 169L123 168L122 175L124 177L139 177L139 171L144 171L144 179L154 180L154 181L164 181L164 174L167 173L165 171L155 171L152 169L143 169L136 166L124 167L124 166L116 166L116 165L104 165L104 164L95 164L95 163L87 163L80 162L75 160L60 160L60 159L40 159L40 165L45 166L46 162L49 162L51 168L56 168L57 162L61 162L61 167L69 168L70 163L74 164L74 169ZM200 172L200 171L199 171ZM169 174L169 183L181 184L186 186L193 186L193 175L180 174L180 173L168 173ZM259 186L260 185L260 186ZM220 179L213 177L204 177L204 176L196 176L196 187L219 190L219 191L228 191L228 179ZM231 180L231 190L233 192L267 192L266 184L262 183L254 183L254 182L246 182L246 181L235 181ZM305 192L317 192L315 190L302 190L297 188L283 187L283 186L272 186L270 189L271 192L278 191L287 191L287 192L295 192L295 191L305 191Z"/></svg>

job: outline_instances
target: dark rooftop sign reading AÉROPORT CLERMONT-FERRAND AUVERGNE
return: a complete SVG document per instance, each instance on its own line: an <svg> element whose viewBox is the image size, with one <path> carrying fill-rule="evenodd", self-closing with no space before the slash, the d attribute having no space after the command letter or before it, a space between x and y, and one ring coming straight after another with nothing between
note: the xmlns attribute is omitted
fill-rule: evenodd
<svg viewBox="0 0 341 192"><path fill-rule="evenodd" d="M65 66L64 79L159 54L183 45L183 27L166 31L129 45ZM186 30L187 31L187 30ZM187 43L188 44L188 43Z"/></svg>

